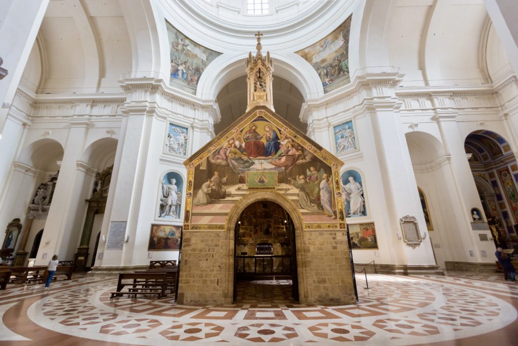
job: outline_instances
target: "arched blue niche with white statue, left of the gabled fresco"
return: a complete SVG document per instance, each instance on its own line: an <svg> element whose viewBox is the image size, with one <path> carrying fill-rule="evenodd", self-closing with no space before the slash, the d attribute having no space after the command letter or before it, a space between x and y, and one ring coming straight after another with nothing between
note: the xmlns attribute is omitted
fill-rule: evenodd
<svg viewBox="0 0 518 346"><path fill-rule="evenodd" d="M180 219L183 202L183 178L178 172L167 172L160 179L157 217Z"/></svg>

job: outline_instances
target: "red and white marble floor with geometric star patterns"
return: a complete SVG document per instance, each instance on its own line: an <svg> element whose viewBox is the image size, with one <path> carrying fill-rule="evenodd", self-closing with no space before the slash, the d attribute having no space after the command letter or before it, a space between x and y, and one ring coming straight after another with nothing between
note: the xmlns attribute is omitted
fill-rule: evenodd
<svg viewBox="0 0 518 346"><path fill-rule="evenodd" d="M240 284L238 300L226 306L109 299L114 278L82 276L49 292L9 285L0 292L0 345L518 344L518 285L501 275L368 280L369 290L358 278L353 306L298 304L289 281Z"/></svg>

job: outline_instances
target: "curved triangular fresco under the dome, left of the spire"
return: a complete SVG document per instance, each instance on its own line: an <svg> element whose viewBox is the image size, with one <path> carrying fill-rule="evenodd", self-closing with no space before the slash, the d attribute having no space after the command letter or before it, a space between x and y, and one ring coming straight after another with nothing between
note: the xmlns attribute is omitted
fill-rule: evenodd
<svg viewBox="0 0 518 346"><path fill-rule="evenodd" d="M169 37L171 79L169 85L196 94L199 77L221 53L201 46L166 22Z"/></svg>

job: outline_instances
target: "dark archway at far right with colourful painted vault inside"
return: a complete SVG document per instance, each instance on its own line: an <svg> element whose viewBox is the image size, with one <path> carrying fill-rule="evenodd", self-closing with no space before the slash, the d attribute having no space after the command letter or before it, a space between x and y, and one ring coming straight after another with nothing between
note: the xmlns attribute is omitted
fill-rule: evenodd
<svg viewBox="0 0 518 346"><path fill-rule="evenodd" d="M496 246L518 247L518 164L510 144L498 133L478 130L465 140L466 154ZM478 211L472 211L477 215Z"/></svg>

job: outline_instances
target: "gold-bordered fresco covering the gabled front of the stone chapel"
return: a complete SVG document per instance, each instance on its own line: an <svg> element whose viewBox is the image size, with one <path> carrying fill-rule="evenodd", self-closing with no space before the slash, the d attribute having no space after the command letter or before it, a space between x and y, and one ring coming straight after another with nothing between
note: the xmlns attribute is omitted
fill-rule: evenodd
<svg viewBox="0 0 518 346"><path fill-rule="evenodd" d="M343 209L337 206L340 161L266 110L242 119L211 142L215 144L202 148L202 155L186 161L186 197L187 203L192 197L192 209L186 205L185 223L195 229L223 225L241 197L275 190L299 207L305 223L334 223L323 227L338 228L337 223L344 222ZM263 235L264 231L257 230Z"/></svg>

